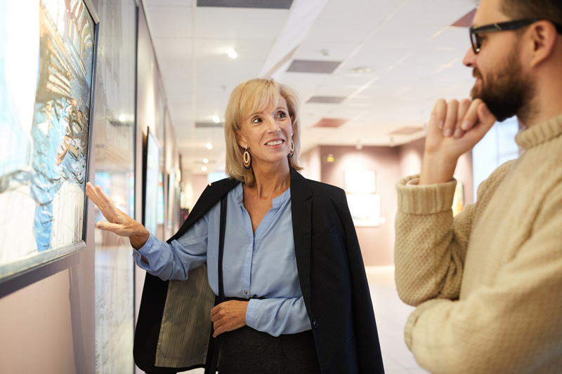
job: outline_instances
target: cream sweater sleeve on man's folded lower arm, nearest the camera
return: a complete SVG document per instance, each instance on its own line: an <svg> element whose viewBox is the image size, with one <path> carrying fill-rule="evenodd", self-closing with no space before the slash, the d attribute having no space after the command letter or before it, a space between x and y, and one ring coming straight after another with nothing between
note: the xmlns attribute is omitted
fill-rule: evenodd
<svg viewBox="0 0 562 374"><path fill-rule="evenodd" d="M544 362L556 361L562 339L561 206L558 184L492 285L464 300L429 300L412 313L405 340L421 366L433 373L537 373Z"/></svg>

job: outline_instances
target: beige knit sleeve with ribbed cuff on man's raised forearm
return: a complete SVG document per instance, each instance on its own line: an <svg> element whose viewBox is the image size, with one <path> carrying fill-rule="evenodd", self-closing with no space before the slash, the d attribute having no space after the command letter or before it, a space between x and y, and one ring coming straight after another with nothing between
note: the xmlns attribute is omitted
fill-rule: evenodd
<svg viewBox="0 0 562 374"><path fill-rule="evenodd" d="M414 306L433 298L459 297L475 209L467 204L453 219L457 181L419 186L417 178L403 178L397 184L394 251L398 295Z"/></svg>

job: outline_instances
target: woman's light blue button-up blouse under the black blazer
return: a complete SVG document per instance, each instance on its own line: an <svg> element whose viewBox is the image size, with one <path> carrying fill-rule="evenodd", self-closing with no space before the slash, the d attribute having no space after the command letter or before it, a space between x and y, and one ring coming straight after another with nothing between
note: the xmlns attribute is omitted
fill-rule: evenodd
<svg viewBox="0 0 562 374"><path fill-rule="evenodd" d="M227 199L223 257L225 296L254 297L246 310L246 324L251 328L273 336L310 330L294 255L290 188L273 199L273 207L255 233L243 200L242 183L239 183L228 192ZM218 295L220 220L219 202L177 241L168 244L150 234L143 248L133 253L136 264L166 281L188 279L191 269L207 262L209 284Z"/></svg>

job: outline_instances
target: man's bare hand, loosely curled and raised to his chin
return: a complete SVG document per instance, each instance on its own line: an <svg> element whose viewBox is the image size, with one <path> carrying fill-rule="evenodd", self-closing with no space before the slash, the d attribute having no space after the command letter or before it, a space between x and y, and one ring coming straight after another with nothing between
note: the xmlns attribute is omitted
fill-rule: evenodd
<svg viewBox="0 0 562 374"><path fill-rule="evenodd" d="M448 103L438 100L427 125L419 185L452 180L459 157L471 150L495 121L496 117L480 99Z"/></svg>

